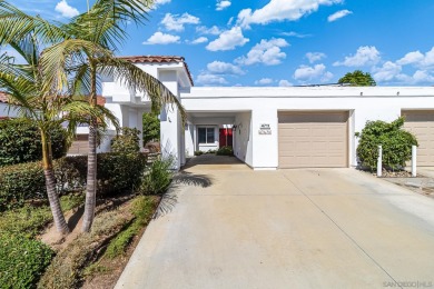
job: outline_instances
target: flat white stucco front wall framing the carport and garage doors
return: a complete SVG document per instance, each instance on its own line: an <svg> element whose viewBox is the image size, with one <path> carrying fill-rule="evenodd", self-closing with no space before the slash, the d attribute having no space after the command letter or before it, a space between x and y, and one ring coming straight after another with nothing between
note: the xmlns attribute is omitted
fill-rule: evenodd
<svg viewBox="0 0 434 289"><path fill-rule="evenodd" d="M193 88L181 93L187 111L251 111L251 163L255 169L278 167L278 111L349 111L349 165L357 166L354 132L368 120L392 121L404 109L434 109L434 88ZM237 122L237 121L236 121ZM259 134L260 124L272 134Z"/></svg>

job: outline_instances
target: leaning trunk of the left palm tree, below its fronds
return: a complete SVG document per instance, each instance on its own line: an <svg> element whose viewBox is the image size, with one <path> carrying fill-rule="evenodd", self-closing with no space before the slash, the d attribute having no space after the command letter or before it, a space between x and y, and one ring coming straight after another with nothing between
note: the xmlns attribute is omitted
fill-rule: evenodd
<svg viewBox="0 0 434 289"><path fill-rule="evenodd" d="M46 187L47 187L47 196L50 202L52 219L55 220L56 229L60 233L68 233L69 228L68 223L65 220L65 216L62 209L60 207L59 196L56 191L56 179L55 171L52 168L52 157L51 157L51 141L50 137L46 131L41 130L41 141L42 141L42 166L43 173L46 176Z"/></svg>

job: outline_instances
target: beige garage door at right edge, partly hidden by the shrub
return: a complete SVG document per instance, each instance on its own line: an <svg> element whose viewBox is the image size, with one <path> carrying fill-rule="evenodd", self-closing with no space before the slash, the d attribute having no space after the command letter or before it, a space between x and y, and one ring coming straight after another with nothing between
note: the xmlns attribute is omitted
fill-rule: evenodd
<svg viewBox="0 0 434 289"><path fill-rule="evenodd" d="M434 110L407 110L402 114L406 119L404 128L417 138L417 166L434 166Z"/></svg>

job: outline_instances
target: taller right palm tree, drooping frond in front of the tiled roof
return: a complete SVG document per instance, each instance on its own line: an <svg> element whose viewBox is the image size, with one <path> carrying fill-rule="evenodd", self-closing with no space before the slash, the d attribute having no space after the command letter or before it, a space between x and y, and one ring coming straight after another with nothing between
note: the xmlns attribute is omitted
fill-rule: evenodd
<svg viewBox="0 0 434 289"><path fill-rule="evenodd" d="M146 91L154 110L159 110L165 103L174 103L184 118L185 111L180 102L159 80L112 54L112 51L117 51L117 46L127 38L126 26L130 22L144 23L152 4L154 0L97 0L87 13L62 26L61 29L69 39L45 52L46 72L51 73L51 82L57 83L60 89L67 84L68 74L73 74L75 87L86 91L82 93L89 96L89 103L95 107L100 86L99 76L110 76L132 91ZM75 69L66 70L67 63ZM89 124L88 177L82 222L82 231L86 232L91 228L96 207L97 130L98 121L92 118Z"/></svg>

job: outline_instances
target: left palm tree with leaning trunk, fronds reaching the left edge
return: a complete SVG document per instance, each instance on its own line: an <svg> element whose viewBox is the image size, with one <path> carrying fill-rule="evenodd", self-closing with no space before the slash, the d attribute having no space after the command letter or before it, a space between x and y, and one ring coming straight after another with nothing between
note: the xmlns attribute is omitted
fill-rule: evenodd
<svg viewBox="0 0 434 289"><path fill-rule="evenodd" d="M49 131L68 123L67 136L72 138L77 124L86 122L87 116L100 119L108 116L112 121L116 121L116 118L102 107L89 106L83 98L72 99L68 94L62 94L61 90L52 89L41 67L41 49L34 32L20 34L20 38L9 39L7 43L24 59L26 63L17 64L13 58L7 54L0 57L0 90L9 96L20 114L33 121L40 130L42 167L55 226L59 232L68 233L69 228L56 191Z"/></svg>

